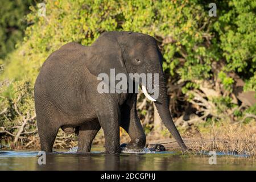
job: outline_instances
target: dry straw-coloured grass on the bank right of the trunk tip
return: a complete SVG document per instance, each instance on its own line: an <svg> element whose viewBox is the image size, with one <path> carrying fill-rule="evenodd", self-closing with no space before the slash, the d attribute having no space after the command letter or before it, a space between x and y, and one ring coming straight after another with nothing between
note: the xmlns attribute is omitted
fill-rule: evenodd
<svg viewBox="0 0 256 182"><path fill-rule="evenodd" d="M256 123L255 121L241 125L240 123L224 123L222 126L212 126L209 132L197 135L187 134L191 138L188 147L195 152L220 151L225 154L246 154L256 157Z"/></svg>

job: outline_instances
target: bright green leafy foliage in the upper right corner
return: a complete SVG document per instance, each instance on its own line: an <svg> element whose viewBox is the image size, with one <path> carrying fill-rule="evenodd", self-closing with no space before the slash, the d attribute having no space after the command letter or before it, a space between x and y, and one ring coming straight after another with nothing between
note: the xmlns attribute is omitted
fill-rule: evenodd
<svg viewBox="0 0 256 182"><path fill-rule="evenodd" d="M220 46L227 62L225 69L228 71L255 72L255 7L255 1L229 1L229 11L222 13L214 24L220 35Z"/></svg>

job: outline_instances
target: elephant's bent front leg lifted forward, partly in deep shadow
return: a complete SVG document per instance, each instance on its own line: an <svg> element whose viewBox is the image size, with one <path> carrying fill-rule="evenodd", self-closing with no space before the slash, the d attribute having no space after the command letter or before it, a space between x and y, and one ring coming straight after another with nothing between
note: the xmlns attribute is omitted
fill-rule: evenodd
<svg viewBox="0 0 256 182"><path fill-rule="evenodd" d="M146 144L146 135L138 117L136 104L137 94L133 94L122 107L121 127L131 138L131 142L127 145L127 148L131 149L141 149Z"/></svg>

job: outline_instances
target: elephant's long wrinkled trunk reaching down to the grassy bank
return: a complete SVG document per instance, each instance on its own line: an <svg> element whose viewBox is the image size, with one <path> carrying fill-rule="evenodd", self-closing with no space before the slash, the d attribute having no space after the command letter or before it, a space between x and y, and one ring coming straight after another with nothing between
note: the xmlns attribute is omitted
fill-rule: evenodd
<svg viewBox="0 0 256 182"><path fill-rule="evenodd" d="M159 97L156 99L154 104L164 125L174 136L177 143L181 147L181 150L183 152L187 151L188 148L187 146L185 146L183 139L180 137L179 131L177 131L176 126L174 125L174 121L171 117L171 113L169 110L169 101L167 97L166 81L163 72L159 75Z"/></svg>

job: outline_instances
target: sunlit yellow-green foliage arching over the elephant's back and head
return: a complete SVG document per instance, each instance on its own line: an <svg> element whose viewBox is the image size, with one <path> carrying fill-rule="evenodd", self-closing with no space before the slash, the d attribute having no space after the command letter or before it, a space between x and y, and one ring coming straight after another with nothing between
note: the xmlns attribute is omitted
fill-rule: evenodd
<svg viewBox="0 0 256 182"><path fill-rule="evenodd" d="M2 77L33 82L46 57L63 44L88 46L101 32L113 30L143 32L162 40L164 69L183 80L209 77L216 57L214 48L204 47L211 20L197 1L55 1L46 4L46 17L39 17L35 7L31 11L27 20L34 25L7 59Z"/></svg>

